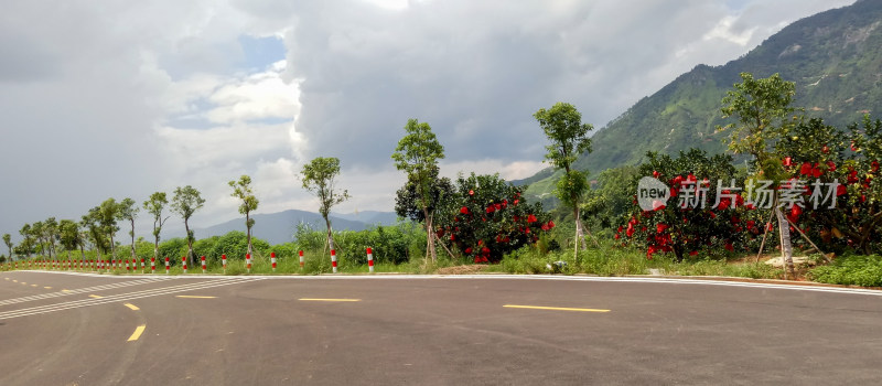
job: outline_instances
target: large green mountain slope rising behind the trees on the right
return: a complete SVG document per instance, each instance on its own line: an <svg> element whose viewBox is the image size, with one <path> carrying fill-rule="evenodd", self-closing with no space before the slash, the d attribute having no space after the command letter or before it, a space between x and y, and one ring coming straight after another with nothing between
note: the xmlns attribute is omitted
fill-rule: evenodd
<svg viewBox="0 0 882 386"><path fill-rule="evenodd" d="M647 151L677 153L699 148L725 150L721 100L739 74L774 73L796 83L793 106L809 117L822 117L845 128L864 114L882 112L882 0L860 0L787 25L742 57L722 66L698 65L652 96L644 97L594 135L593 152L576 168L599 172L638 164ZM880 116L882 117L882 116ZM545 173L545 174L542 174ZM542 196L553 189L549 170L521 180L527 194ZM542 175L542 176L540 176Z"/></svg>

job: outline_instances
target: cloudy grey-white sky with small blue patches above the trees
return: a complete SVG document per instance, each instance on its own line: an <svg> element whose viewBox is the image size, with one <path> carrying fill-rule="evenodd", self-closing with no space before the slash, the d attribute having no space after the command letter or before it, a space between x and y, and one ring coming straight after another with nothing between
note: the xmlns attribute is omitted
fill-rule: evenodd
<svg viewBox="0 0 882 386"><path fill-rule="evenodd" d="M601 128L852 1L6 1L0 234L187 184L209 226L238 217L241 174L259 213L315 211L295 174L319 156L341 159L337 212L391 211L408 118L445 147L443 174L525 178L544 167L537 109L569 101Z"/></svg>

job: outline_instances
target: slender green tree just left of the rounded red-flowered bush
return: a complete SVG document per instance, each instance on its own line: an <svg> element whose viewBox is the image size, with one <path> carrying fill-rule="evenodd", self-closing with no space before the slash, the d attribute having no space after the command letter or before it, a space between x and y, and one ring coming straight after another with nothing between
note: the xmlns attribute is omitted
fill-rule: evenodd
<svg viewBox="0 0 882 386"><path fill-rule="evenodd" d="M395 167L405 171L408 181L416 186L426 219L429 255L432 257L432 261L435 261L434 245L437 237L433 232L429 207L434 205L432 202L432 185L438 175L438 160L444 158L444 147L438 142L438 138L432 132L432 127L427 122L409 119L405 125L405 132L407 135L398 141L398 147L395 148L392 153L392 160L395 160Z"/></svg>

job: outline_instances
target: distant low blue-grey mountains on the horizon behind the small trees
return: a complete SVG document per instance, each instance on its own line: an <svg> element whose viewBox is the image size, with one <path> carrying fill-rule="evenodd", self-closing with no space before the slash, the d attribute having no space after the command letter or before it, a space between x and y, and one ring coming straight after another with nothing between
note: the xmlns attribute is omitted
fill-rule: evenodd
<svg viewBox="0 0 882 386"><path fill-rule="evenodd" d="M365 211L354 214L336 214L329 216L331 225L335 230L363 230L374 225L395 225L398 221L394 212L373 212ZM283 244L293 240L294 229L298 224L305 223L313 229L324 229L324 219L318 213L305 211L284 211L271 214L256 214L255 226L251 235L263 239L270 245ZM245 232L245 217L230 219L206 228L197 228L193 232L197 238L212 236L223 236L232 230ZM180 234L163 235L163 238L184 237L184 232Z"/></svg>

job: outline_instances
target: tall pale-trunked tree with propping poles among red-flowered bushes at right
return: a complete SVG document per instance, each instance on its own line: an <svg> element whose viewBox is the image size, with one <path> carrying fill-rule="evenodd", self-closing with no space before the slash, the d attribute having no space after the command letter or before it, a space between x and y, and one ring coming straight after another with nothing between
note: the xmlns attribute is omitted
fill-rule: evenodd
<svg viewBox="0 0 882 386"><path fill-rule="evenodd" d="M772 148L784 138L790 128L799 121L797 110L790 107L796 94L796 84L786 82L781 75L755 79L750 73L741 73L741 83L727 92L722 100L723 118L733 117L735 122L719 127L718 131L730 131L729 149L735 153L750 154L763 180L782 180L784 173L781 157ZM781 235L781 251L787 271L795 278L793 266L793 247L787 219L778 206L778 190L775 190L774 213Z"/></svg>

